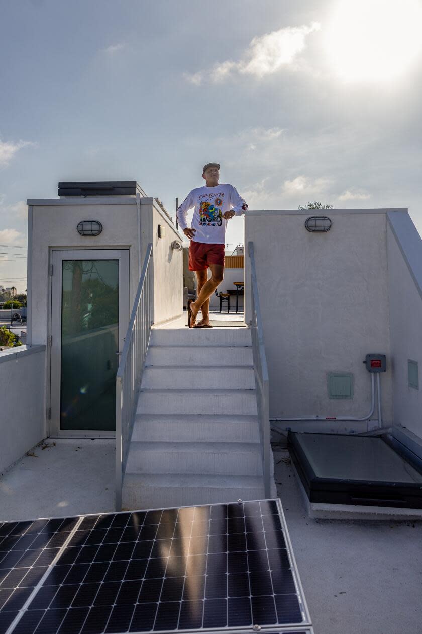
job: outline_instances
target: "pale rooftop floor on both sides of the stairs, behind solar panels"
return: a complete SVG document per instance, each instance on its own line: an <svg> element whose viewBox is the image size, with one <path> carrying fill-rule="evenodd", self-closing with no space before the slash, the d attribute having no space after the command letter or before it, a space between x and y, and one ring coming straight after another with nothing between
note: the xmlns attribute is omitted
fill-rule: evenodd
<svg viewBox="0 0 422 634"><path fill-rule="evenodd" d="M114 442L47 441L0 477L0 521L114 510ZM275 479L316 634L422 631L422 523L307 517L289 453Z"/></svg>

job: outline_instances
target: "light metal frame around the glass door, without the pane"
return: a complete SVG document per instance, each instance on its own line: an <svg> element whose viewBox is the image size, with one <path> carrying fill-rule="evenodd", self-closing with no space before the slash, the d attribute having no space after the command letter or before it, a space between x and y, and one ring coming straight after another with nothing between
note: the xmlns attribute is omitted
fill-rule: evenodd
<svg viewBox="0 0 422 634"><path fill-rule="evenodd" d="M53 438L115 438L112 430L60 429L60 386L61 386L61 285L63 260L118 260L119 262L119 359L123 351L124 338L129 323L129 256L130 249L75 249L55 247L51 249L51 310L49 314L49 437ZM126 280L126 282L125 282ZM54 332L55 331L55 332Z"/></svg>

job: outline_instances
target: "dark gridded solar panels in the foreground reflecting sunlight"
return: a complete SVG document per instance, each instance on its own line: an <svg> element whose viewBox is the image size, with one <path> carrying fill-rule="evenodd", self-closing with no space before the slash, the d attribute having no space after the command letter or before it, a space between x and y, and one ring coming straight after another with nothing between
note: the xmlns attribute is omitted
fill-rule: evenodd
<svg viewBox="0 0 422 634"><path fill-rule="evenodd" d="M312 631L278 500L0 525L0 633L254 625Z"/></svg>

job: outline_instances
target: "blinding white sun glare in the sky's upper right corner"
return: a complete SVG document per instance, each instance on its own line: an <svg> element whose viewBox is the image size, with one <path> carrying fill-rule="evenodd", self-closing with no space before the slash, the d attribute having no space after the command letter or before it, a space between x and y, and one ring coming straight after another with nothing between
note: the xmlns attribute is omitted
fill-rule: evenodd
<svg viewBox="0 0 422 634"><path fill-rule="evenodd" d="M325 49L345 81L388 81L406 72L421 52L419 0L336 0Z"/></svg>

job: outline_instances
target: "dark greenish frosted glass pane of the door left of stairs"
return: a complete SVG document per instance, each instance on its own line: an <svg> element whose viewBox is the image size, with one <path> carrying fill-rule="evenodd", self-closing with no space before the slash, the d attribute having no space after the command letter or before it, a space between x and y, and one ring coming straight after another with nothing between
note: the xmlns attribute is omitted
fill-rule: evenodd
<svg viewBox="0 0 422 634"><path fill-rule="evenodd" d="M115 429L118 260L63 260L61 429Z"/></svg>

